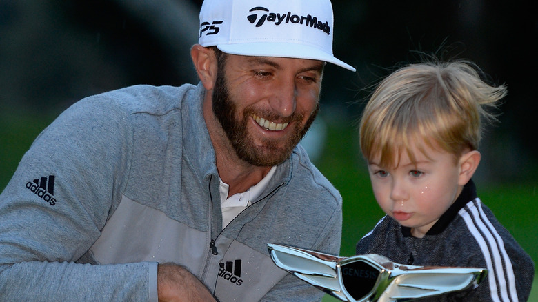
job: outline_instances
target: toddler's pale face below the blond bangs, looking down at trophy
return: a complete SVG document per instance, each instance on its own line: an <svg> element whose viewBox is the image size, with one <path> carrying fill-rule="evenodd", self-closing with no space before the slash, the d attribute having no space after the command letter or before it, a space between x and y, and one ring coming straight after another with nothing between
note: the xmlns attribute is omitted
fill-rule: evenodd
<svg viewBox="0 0 538 302"><path fill-rule="evenodd" d="M422 237L454 203L464 184L459 184L460 166L453 154L427 145L427 157L417 145L411 151L416 165L402 152L397 167L381 167L381 154L377 154L368 171L381 209L411 228L413 236Z"/></svg>

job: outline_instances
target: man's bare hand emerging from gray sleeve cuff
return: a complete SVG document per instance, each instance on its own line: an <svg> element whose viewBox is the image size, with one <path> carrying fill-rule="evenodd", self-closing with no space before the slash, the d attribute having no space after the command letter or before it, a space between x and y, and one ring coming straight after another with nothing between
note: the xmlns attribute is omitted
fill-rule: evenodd
<svg viewBox="0 0 538 302"><path fill-rule="evenodd" d="M157 267L157 294L159 302L215 302L208 288L196 276L174 263Z"/></svg>

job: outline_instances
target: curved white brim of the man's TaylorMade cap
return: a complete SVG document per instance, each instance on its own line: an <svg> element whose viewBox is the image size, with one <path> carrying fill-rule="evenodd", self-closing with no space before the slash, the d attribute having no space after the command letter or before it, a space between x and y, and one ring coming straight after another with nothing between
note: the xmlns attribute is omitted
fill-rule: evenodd
<svg viewBox="0 0 538 302"><path fill-rule="evenodd" d="M284 57L297 59L310 59L333 63L337 66L355 72L355 68L347 63L343 63L331 54L308 45L295 43L277 42L255 42L255 43L235 43L218 44L217 48L227 54L239 54L254 57Z"/></svg>

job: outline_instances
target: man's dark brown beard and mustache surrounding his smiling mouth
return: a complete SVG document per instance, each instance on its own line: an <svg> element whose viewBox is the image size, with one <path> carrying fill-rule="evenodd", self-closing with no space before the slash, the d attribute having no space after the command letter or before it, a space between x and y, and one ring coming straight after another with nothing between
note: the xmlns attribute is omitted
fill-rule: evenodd
<svg viewBox="0 0 538 302"><path fill-rule="evenodd" d="M293 148L301 141L308 128L310 128L310 125L312 125L319 111L319 103L316 104L314 112L312 112L303 128L300 128L301 121L303 121L303 114L298 112L294 112L286 120L281 121L281 123L289 122L289 125L295 126L292 135L286 142L282 144L282 141L263 139L263 148L260 148L254 144L252 137L250 137L247 131L247 125L252 114L257 114L259 117L264 117L268 120L277 120L279 117L270 112L254 112L252 108L246 108L242 117L237 117L237 105L230 98L226 80L224 79L223 71L221 71L222 69L219 68L217 72L215 89L213 90L213 114L215 114L215 117L221 123L237 157L251 165L264 167L278 165L286 161L290 157Z"/></svg>

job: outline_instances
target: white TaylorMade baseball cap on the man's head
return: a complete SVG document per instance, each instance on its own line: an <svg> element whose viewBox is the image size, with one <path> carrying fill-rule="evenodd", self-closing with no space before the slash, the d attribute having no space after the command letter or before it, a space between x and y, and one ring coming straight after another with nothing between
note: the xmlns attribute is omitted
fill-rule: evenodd
<svg viewBox="0 0 538 302"><path fill-rule="evenodd" d="M330 0L205 0L198 43L228 54L314 59L355 72L332 54Z"/></svg>

